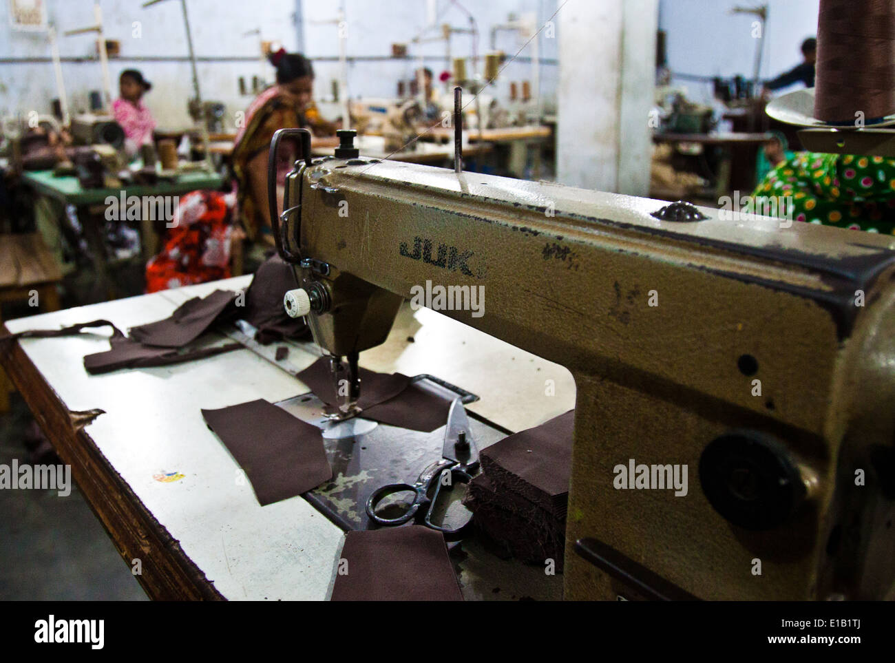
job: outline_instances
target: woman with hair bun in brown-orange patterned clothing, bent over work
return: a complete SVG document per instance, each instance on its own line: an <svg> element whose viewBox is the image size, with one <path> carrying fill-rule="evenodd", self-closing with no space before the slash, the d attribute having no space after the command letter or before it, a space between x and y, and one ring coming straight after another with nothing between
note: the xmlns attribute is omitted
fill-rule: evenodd
<svg viewBox="0 0 895 663"><path fill-rule="evenodd" d="M311 102L314 70L303 55L280 49L270 55L277 67L277 83L265 89L251 102L243 127L236 134L233 172L236 204L245 234L251 241L274 244L268 209L268 153L270 139L277 129L306 127L315 136L335 134L337 125L320 117ZM300 155L299 146L284 140L277 163L278 204L282 209L282 183Z"/></svg>

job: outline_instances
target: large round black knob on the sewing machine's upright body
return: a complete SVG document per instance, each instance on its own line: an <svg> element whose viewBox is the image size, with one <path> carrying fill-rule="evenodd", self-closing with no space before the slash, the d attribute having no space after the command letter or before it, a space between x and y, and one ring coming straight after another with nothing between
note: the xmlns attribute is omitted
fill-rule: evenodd
<svg viewBox="0 0 895 663"><path fill-rule="evenodd" d="M715 511L746 530L785 523L807 493L786 446L754 430L713 439L699 459L699 481Z"/></svg>

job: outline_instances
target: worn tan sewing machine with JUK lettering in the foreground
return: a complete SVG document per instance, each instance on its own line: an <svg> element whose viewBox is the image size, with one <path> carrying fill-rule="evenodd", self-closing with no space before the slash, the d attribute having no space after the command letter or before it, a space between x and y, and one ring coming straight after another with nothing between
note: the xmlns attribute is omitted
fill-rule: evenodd
<svg viewBox="0 0 895 663"><path fill-rule="evenodd" d="M892 598L895 238L343 138L296 163L275 230L345 417L414 285L481 285L483 315L442 312L575 377L566 599Z"/></svg>

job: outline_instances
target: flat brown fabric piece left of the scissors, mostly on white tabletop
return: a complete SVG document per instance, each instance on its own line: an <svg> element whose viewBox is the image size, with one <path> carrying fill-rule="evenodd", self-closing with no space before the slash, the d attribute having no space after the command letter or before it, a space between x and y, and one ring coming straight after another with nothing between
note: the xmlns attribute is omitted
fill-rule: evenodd
<svg viewBox="0 0 895 663"><path fill-rule="evenodd" d="M301 495L332 479L320 429L263 399L202 417L251 482L261 506Z"/></svg>

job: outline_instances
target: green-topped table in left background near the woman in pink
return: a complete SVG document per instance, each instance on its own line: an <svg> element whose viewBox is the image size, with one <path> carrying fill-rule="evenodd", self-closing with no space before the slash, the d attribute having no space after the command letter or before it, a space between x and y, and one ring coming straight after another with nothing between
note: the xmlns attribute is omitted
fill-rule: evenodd
<svg viewBox="0 0 895 663"><path fill-rule="evenodd" d="M120 189L84 189L73 175L55 177L51 170L26 171L21 174L22 182L34 191L48 198L59 200L64 205L79 208L79 219L84 226L84 234L93 253L93 265L97 275L97 288L101 296L114 295L115 288L108 276L106 247L102 239L102 222L91 214L90 206L104 205L109 196L119 198L123 193L130 196L176 196L198 189L219 189L224 182L217 173L202 171L177 174L175 182L155 184L128 184ZM158 248L157 236L149 219L141 219L141 242L143 257L149 259Z"/></svg>

